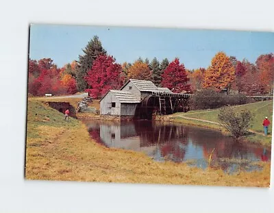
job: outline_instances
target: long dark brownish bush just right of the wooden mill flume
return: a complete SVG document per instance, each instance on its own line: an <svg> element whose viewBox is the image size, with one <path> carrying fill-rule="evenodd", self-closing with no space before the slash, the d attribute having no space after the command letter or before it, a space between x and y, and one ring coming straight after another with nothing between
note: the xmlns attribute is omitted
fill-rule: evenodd
<svg viewBox="0 0 274 213"><path fill-rule="evenodd" d="M250 103L245 95L225 95L216 90L206 89L195 92L190 98L192 110L207 110L221 108L225 105L240 105Z"/></svg>

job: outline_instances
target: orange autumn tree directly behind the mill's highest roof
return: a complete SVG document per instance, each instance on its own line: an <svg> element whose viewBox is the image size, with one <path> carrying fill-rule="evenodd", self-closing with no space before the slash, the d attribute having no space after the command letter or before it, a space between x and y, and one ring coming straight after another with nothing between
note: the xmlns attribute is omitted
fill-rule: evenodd
<svg viewBox="0 0 274 213"><path fill-rule="evenodd" d="M129 67L127 77L139 80L150 80L151 71L146 63L137 60Z"/></svg>

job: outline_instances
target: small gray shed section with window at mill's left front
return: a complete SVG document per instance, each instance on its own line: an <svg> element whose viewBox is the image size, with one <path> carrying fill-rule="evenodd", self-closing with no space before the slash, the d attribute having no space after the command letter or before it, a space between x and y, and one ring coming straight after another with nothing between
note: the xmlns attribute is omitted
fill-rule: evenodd
<svg viewBox="0 0 274 213"><path fill-rule="evenodd" d="M109 90L100 101L100 114L116 116L134 116L140 100L124 90Z"/></svg>

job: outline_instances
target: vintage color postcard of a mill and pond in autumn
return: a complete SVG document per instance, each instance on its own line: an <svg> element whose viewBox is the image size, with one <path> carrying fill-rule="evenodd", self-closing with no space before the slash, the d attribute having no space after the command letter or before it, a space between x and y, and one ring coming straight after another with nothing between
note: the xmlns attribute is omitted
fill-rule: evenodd
<svg viewBox="0 0 274 213"><path fill-rule="evenodd" d="M33 24L25 179L269 187L273 33Z"/></svg>

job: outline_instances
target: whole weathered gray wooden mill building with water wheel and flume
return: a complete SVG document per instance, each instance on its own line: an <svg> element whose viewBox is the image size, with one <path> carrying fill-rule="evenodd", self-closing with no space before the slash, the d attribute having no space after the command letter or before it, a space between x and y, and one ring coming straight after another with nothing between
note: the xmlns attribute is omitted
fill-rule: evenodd
<svg viewBox="0 0 274 213"><path fill-rule="evenodd" d="M153 114L186 112L190 95L159 88L151 81L129 79L120 90L109 90L100 101L100 114L151 118Z"/></svg>

